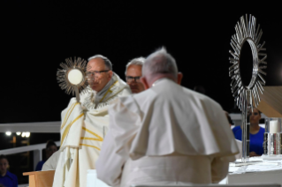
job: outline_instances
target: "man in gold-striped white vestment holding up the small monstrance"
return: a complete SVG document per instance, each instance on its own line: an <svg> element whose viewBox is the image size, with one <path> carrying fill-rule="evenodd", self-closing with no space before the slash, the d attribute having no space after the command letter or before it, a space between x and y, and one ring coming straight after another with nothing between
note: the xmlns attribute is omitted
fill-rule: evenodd
<svg viewBox="0 0 282 187"><path fill-rule="evenodd" d="M42 169L56 168L53 187L86 187L87 170L95 169L108 131L108 107L118 96L131 94L129 86L112 71L111 62L105 56L90 57L87 69L91 91L80 93L80 102L72 98L62 112L60 150Z"/></svg>

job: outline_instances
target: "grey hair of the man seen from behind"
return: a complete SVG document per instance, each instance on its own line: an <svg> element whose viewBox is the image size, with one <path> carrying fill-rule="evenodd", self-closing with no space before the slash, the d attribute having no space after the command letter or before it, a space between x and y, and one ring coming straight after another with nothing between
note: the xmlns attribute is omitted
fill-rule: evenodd
<svg viewBox="0 0 282 187"><path fill-rule="evenodd" d="M143 76L154 76L160 73L171 74L175 78L178 75L175 59L166 52L164 47L149 55L142 68Z"/></svg>

